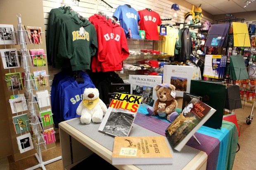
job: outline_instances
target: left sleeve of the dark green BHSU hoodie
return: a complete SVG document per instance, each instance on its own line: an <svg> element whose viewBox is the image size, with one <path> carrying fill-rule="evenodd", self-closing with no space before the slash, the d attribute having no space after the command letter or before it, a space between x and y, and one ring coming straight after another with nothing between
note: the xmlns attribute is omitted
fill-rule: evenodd
<svg viewBox="0 0 256 170"><path fill-rule="evenodd" d="M60 33L59 33L59 45L58 45L58 58L68 58L70 59L72 57L72 54L68 54L67 49L67 41L69 39L68 36L68 29L66 28L66 24L62 23Z"/></svg>

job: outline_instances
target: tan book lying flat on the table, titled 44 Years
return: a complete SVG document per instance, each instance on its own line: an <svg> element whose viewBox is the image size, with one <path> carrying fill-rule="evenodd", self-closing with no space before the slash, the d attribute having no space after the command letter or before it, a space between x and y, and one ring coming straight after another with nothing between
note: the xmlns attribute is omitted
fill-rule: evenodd
<svg viewBox="0 0 256 170"><path fill-rule="evenodd" d="M173 156L164 136L115 137L112 165L172 163Z"/></svg>

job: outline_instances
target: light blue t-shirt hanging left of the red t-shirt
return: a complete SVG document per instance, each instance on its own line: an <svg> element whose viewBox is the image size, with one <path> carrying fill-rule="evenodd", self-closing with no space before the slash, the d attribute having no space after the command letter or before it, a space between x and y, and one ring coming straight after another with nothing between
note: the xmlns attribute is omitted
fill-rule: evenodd
<svg viewBox="0 0 256 170"><path fill-rule="evenodd" d="M120 25L124 29L126 35L129 32L129 28L132 32L132 38L140 39L138 22L140 21L139 13L133 8L127 5L119 5L113 14L117 20L120 20Z"/></svg>

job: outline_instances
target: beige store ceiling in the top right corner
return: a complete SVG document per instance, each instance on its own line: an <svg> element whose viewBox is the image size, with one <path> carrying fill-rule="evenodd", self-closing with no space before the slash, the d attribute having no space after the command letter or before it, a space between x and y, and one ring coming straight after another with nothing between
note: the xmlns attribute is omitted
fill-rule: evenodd
<svg viewBox="0 0 256 170"><path fill-rule="evenodd" d="M256 0L185 0L212 15L232 14L256 10ZM246 6L246 7L245 7Z"/></svg>

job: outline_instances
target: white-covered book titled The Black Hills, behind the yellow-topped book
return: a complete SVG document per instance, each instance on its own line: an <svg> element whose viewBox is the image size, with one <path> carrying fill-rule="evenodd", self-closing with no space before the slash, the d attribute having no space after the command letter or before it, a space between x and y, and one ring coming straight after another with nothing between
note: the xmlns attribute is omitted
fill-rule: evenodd
<svg viewBox="0 0 256 170"><path fill-rule="evenodd" d="M157 100L154 87L162 84L161 76L129 75L130 94L143 97L141 106L154 106Z"/></svg>

